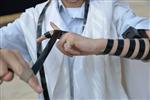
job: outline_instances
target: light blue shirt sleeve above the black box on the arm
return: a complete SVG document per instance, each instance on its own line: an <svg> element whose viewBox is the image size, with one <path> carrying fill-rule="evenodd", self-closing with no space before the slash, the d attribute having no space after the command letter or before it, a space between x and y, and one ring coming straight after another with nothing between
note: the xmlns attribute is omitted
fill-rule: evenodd
<svg viewBox="0 0 150 100"><path fill-rule="evenodd" d="M150 19L137 16L129 7L127 0L115 0L113 19L119 36L129 27L136 29L150 29Z"/></svg>

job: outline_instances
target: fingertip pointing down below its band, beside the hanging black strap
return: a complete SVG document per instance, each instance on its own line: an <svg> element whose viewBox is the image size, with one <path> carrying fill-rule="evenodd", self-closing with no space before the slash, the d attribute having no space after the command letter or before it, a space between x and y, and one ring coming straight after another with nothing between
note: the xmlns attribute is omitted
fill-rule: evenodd
<svg viewBox="0 0 150 100"><path fill-rule="evenodd" d="M29 79L28 84L33 88L37 93L41 93L43 91L41 85L39 84L37 78L35 75L32 75L32 77Z"/></svg>

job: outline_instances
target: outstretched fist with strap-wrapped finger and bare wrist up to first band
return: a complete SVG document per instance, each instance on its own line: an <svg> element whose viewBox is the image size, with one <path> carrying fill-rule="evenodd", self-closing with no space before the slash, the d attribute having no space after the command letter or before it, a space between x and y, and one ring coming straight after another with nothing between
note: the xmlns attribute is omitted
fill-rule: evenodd
<svg viewBox="0 0 150 100"><path fill-rule="evenodd" d="M60 30L54 23L50 24L54 30ZM45 39L47 39L45 36L41 36L37 42ZM76 33L65 33L57 43L58 49L68 56L98 54L105 48L105 45L106 40L104 39L86 38Z"/></svg>

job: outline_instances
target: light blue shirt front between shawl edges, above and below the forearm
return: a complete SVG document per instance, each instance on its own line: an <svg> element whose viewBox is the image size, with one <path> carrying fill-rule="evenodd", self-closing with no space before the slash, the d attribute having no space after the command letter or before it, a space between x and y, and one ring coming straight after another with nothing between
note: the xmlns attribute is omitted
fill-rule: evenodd
<svg viewBox="0 0 150 100"><path fill-rule="evenodd" d="M78 34L81 34L83 31L83 21L84 21L84 9L85 4L82 4L81 7L78 8L65 8L62 1L59 0L59 12L64 20L67 28L69 29L69 32L75 32ZM74 74L73 74L73 63L74 63L74 57L68 57L69 62L69 75L70 75L70 91L71 96L73 96L74 91Z"/></svg>

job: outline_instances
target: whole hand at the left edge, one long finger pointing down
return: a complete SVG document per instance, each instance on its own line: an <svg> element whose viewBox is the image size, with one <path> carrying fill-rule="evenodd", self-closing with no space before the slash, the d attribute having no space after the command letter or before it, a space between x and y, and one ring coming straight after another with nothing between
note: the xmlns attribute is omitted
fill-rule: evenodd
<svg viewBox="0 0 150 100"><path fill-rule="evenodd" d="M25 69L29 68L29 64L24 61L18 51L0 49L0 80L11 81L13 73L21 76ZM27 83L37 92L41 93L42 87L40 86L36 76L31 75Z"/></svg>

